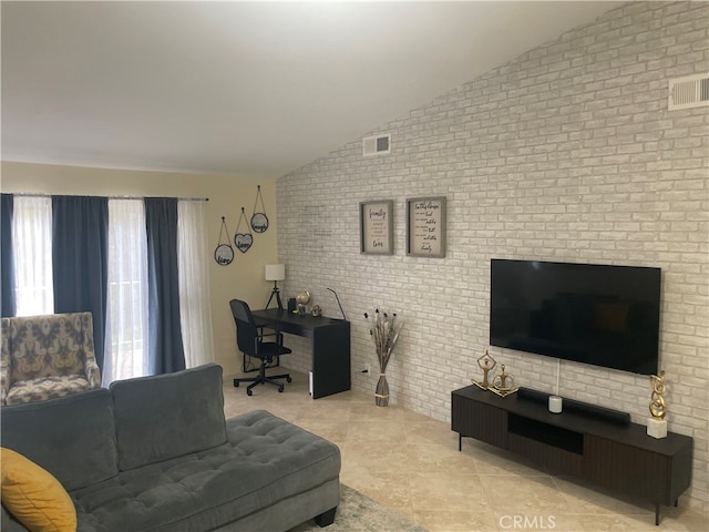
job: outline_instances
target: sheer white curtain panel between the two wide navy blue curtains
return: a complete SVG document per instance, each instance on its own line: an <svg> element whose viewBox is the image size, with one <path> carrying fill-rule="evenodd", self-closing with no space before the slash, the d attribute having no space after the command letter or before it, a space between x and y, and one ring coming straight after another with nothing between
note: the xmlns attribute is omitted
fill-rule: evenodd
<svg viewBox="0 0 709 532"><path fill-rule="evenodd" d="M146 241L143 200L109 200L104 386L147 375Z"/></svg>

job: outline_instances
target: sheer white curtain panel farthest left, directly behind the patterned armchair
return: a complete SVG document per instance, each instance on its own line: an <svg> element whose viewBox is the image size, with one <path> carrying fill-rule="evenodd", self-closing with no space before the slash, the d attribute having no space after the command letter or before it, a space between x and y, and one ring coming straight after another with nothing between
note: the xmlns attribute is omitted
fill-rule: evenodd
<svg viewBox="0 0 709 532"><path fill-rule="evenodd" d="M12 244L17 315L54 311L52 279L52 198L14 196Z"/></svg>

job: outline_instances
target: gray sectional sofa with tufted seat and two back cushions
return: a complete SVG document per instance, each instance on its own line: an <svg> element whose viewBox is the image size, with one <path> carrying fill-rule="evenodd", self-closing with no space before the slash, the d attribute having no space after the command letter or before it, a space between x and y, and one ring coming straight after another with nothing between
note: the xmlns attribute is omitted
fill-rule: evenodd
<svg viewBox="0 0 709 532"><path fill-rule="evenodd" d="M62 483L80 532L330 524L337 446L264 410L225 420L222 386L206 365L3 407L2 447ZM25 529L3 507L1 530Z"/></svg>

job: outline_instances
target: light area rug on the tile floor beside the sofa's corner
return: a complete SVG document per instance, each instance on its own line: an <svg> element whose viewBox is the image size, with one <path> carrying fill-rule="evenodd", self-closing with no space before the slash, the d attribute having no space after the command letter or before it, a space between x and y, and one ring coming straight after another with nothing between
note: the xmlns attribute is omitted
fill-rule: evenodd
<svg viewBox="0 0 709 532"><path fill-rule="evenodd" d="M315 521L302 523L288 532L427 532L393 510L382 507L359 491L340 484L340 504L335 523L321 529Z"/></svg>

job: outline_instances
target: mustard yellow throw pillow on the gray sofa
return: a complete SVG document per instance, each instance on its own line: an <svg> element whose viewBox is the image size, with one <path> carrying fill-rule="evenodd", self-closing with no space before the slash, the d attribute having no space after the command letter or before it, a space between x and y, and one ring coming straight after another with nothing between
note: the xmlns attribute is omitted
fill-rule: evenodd
<svg viewBox="0 0 709 532"><path fill-rule="evenodd" d="M0 448L2 504L30 532L75 532L76 509L62 484L37 463Z"/></svg>

